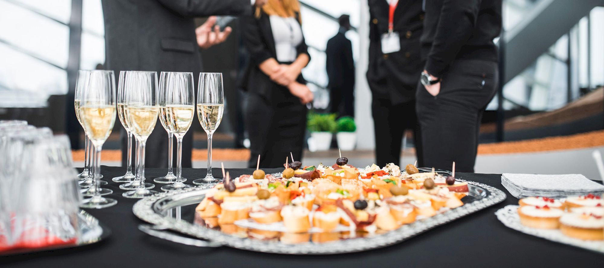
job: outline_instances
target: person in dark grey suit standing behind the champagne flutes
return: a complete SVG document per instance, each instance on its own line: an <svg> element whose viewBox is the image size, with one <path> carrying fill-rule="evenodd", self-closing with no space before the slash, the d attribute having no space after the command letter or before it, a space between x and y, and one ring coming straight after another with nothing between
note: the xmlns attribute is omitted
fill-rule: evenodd
<svg viewBox="0 0 604 268"><path fill-rule="evenodd" d="M194 18L210 15L249 14L252 6L266 0L103 0L106 64L120 71L193 72L197 90L202 71L199 48L223 42L231 29L224 31L210 17L197 29ZM117 80L117 77L116 77ZM182 141L182 167L191 167L193 133ZM122 165L127 159L126 132L121 132ZM176 146L174 146L176 148ZM175 149L176 150L176 149ZM147 140L147 167L165 168L168 139L161 123ZM176 161L176 158L174 158Z"/></svg>

